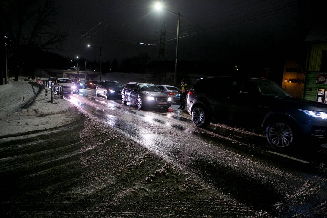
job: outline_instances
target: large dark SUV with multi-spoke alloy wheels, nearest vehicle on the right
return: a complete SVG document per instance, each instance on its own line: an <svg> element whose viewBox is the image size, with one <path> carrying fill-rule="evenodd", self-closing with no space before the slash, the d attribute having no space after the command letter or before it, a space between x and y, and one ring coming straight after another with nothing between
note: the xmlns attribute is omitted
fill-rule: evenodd
<svg viewBox="0 0 327 218"><path fill-rule="evenodd" d="M188 93L187 110L196 126L235 121L266 128L268 142L284 148L302 136L325 142L327 105L290 96L267 79L223 76L198 79Z"/></svg>

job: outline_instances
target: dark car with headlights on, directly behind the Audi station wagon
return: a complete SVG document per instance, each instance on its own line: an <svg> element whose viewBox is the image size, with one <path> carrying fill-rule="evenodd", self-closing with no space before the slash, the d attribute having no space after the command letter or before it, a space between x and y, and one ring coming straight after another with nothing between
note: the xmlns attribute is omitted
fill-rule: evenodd
<svg viewBox="0 0 327 218"><path fill-rule="evenodd" d="M95 87L95 95L102 95L109 99L110 97L121 97L122 85L117 81L102 80Z"/></svg>

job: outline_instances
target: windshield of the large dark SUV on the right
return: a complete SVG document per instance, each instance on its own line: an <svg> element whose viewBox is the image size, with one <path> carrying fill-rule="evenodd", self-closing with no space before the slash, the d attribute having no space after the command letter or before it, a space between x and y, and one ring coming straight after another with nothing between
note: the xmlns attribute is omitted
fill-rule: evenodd
<svg viewBox="0 0 327 218"><path fill-rule="evenodd" d="M257 91L267 96L292 97L282 87L274 82L264 79L250 79L251 83L257 87Z"/></svg>

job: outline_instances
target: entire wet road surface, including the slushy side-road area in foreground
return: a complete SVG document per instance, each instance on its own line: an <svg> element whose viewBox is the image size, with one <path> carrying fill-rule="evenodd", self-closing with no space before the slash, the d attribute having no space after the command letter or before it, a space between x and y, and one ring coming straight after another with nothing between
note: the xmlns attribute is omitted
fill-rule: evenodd
<svg viewBox="0 0 327 218"><path fill-rule="evenodd" d="M87 89L65 98L85 116L0 139L2 215L327 216L323 148L290 159L262 135L199 129L179 110L138 110Z"/></svg>

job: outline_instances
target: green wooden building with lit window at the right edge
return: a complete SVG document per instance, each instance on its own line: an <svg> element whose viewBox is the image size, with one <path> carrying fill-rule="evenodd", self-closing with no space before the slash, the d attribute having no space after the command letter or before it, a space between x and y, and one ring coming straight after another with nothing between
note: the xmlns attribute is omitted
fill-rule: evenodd
<svg viewBox="0 0 327 218"><path fill-rule="evenodd" d="M327 28L315 26L305 39L308 54L303 98L327 103Z"/></svg>

